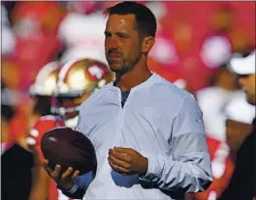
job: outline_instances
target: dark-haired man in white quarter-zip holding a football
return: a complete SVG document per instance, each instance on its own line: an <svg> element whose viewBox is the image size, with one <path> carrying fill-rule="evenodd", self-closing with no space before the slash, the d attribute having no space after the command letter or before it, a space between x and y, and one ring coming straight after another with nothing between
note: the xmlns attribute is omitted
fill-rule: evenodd
<svg viewBox="0 0 256 200"><path fill-rule="evenodd" d="M183 199L212 181L202 111L192 95L146 65L155 41L155 16L144 5L109 8L105 53L114 82L83 101L77 129L93 143L91 183L70 167L49 176L63 192L83 199Z"/></svg>

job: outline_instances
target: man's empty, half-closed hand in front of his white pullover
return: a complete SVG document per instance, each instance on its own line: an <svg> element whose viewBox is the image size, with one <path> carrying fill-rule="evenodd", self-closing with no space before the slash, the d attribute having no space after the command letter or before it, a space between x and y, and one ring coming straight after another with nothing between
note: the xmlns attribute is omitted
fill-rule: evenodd
<svg viewBox="0 0 256 200"><path fill-rule="evenodd" d="M108 158L112 169L120 174L133 175L147 172L147 158L131 148L114 147L109 150Z"/></svg>

